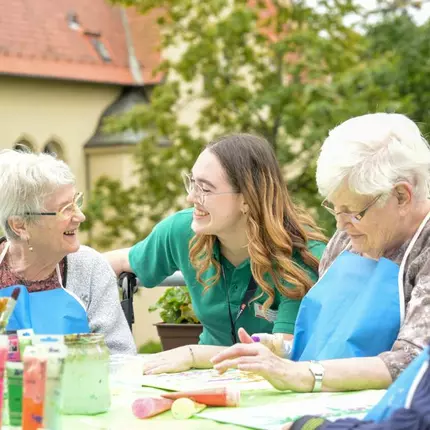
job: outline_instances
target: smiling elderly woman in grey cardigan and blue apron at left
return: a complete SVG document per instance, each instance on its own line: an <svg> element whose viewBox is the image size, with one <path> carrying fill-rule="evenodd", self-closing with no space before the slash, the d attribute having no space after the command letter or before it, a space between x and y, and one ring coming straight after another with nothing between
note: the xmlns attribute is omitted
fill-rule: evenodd
<svg viewBox="0 0 430 430"><path fill-rule="evenodd" d="M112 353L135 353L116 278L95 250L80 246L83 195L54 156L0 152L0 295L21 292L8 330L104 334Z"/></svg>

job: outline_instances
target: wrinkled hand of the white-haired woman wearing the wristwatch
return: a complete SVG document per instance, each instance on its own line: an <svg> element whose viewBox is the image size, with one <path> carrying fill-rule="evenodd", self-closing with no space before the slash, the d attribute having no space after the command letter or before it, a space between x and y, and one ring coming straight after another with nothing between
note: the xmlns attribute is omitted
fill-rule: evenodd
<svg viewBox="0 0 430 430"><path fill-rule="evenodd" d="M295 363L278 357L261 343L237 343L215 355L211 362L219 373L236 368L262 376L278 390L291 389L287 375Z"/></svg>

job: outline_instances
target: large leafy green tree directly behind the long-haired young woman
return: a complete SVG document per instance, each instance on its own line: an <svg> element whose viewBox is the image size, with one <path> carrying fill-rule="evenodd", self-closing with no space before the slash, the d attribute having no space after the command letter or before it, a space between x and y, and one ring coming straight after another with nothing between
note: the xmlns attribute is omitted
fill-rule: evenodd
<svg viewBox="0 0 430 430"><path fill-rule="evenodd" d="M399 0L397 0L399 1ZM163 50L179 58L161 65L165 82L151 104L112 118L109 131L144 130L136 149L138 185L124 189L102 179L88 207L88 226L104 224L93 243L108 247L125 234L143 238L169 211L185 205L180 173L189 170L203 145L231 132L265 136L283 166L291 193L314 210L331 232L331 216L320 210L315 160L330 128L377 110L402 110L392 77L392 53L375 53L364 34L366 13L354 0L113 0L159 19ZM383 3L383 4L382 4ZM381 2L384 13L402 4ZM346 25L350 16L355 25ZM373 45L372 45L373 43ZM373 51L372 51L373 49ZM180 114L200 101L191 127ZM170 146L159 145L169 141ZM127 208L122 213L118 208Z"/></svg>

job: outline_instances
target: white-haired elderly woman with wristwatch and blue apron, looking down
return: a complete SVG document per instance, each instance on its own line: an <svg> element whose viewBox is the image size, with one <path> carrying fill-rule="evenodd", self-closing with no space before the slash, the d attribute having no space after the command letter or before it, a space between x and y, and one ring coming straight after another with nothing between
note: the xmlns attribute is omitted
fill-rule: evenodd
<svg viewBox="0 0 430 430"><path fill-rule="evenodd" d="M317 183L337 232L285 359L243 331L213 358L295 391L386 388L430 332L430 150L400 114L352 118L321 148Z"/></svg>

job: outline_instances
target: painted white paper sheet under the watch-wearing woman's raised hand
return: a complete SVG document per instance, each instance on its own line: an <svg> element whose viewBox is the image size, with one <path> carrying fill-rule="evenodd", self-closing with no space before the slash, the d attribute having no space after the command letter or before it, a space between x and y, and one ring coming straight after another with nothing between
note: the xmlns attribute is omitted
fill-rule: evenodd
<svg viewBox="0 0 430 430"><path fill-rule="evenodd" d="M143 375L139 382L146 387L170 391L191 391L232 386L241 391L273 388L263 377L237 369L229 369L222 375L215 369Z"/></svg>

